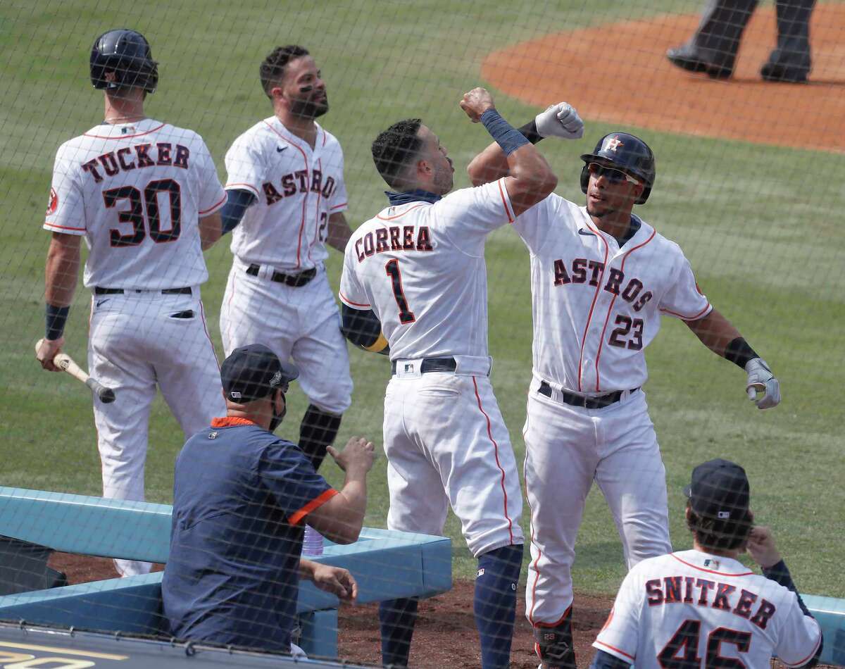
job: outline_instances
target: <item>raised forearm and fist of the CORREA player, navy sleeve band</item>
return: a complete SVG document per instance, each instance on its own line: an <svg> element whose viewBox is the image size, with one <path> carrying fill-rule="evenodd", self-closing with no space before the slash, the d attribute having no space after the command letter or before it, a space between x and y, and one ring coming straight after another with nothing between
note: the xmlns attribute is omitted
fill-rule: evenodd
<svg viewBox="0 0 845 669"><path fill-rule="evenodd" d="M476 88L465 93L461 109L472 122L483 123L504 153L509 172L504 186L508 189L515 215L520 215L552 193L558 185L558 177L525 136L499 115L487 90Z"/></svg>

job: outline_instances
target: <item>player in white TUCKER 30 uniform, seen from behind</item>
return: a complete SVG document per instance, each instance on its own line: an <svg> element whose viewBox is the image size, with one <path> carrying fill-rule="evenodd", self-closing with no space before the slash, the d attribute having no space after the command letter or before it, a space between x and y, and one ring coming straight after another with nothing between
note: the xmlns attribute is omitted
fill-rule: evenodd
<svg viewBox="0 0 845 669"><path fill-rule="evenodd" d="M92 293L88 366L117 400L94 400L106 498L144 499L144 460L156 386L186 438L226 411L220 369L205 328L199 285L208 278L202 251L221 235L226 193L203 139L144 115L155 90L150 45L133 30L110 30L94 43L91 83L105 90L101 125L62 144L53 167L44 229L46 340L53 357L89 248L85 287ZM123 575L147 563L116 561Z"/></svg>

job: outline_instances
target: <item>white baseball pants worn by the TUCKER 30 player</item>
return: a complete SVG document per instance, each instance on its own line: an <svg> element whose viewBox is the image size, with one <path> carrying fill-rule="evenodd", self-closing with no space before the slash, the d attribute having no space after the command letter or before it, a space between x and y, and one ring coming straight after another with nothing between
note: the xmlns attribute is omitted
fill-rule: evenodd
<svg viewBox="0 0 845 669"><path fill-rule="evenodd" d="M188 317L188 313L193 313ZM93 296L88 336L90 374L115 389L94 397L103 497L144 501L150 405L156 386L185 438L226 415L220 367L205 329L199 288L193 295L126 291ZM146 574L149 563L115 560L123 576Z"/></svg>

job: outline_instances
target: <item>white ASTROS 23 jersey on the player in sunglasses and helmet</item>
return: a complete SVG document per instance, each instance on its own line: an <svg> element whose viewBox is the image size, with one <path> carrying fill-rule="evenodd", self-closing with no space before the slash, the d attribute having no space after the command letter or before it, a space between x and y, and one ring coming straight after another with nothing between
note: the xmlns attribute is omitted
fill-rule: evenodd
<svg viewBox="0 0 845 669"><path fill-rule="evenodd" d="M711 310L680 247L645 222L620 249L585 207L552 193L514 227L531 252L534 373L561 388L641 386L660 315L695 320Z"/></svg>

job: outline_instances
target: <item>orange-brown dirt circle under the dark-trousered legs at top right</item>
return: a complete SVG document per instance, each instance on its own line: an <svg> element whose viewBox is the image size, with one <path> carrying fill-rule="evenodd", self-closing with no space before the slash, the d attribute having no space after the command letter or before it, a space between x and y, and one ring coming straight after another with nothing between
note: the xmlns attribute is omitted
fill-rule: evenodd
<svg viewBox="0 0 845 669"><path fill-rule="evenodd" d="M775 41L772 7L760 8L746 28L733 79L674 68L666 50L686 41L698 21L697 14L664 14L547 35L491 53L482 77L532 105L569 101L597 121L845 152L845 4L815 9L808 84L760 79Z"/></svg>

